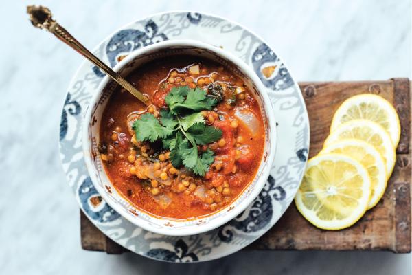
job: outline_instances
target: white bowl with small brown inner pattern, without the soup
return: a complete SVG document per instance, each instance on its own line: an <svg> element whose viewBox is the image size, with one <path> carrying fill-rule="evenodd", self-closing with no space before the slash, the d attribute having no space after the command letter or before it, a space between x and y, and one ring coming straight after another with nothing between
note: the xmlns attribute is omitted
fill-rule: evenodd
<svg viewBox="0 0 412 275"><path fill-rule="evenodd" d="M145 230L170 236L187 236L218 228L220 225L235 218L252 203L255 197L258 197L268 179L273 164L277 135L273 107L260 79L256 76L255 72L253 72L253 69L247 66L239 58L222 50L220 47L193 40L159 42L142 47L139 50L130 53L122 59L113 70L126 77L130 72L133 72L134 69L144 65L144 63L147 63L148 61L176 54L202 56L204 58L209 58L212 61L217 61L218 63L229 67L233 74L236 74L245 80L248 87L253 87L253 89L257 91L255 98L260 104L260 111L262 113L266 133L263 153L264 157L262 157L255 178L236 199L225 206L225 208L208 216L194 219L171 219L167 217L155 217L144 210L136 208L124 199L124 197L119 195L106 175L98 151L98 144L100 142L100 118L102 117L108 99L117 87L113 80L108 76L103 78L100 87L98 88L98 93L93 96L89 108L87 109L83 123L82 144L84 159L91 181L109 206L121 214L122 217L128 219L131 223L134 223Z"/></svg>

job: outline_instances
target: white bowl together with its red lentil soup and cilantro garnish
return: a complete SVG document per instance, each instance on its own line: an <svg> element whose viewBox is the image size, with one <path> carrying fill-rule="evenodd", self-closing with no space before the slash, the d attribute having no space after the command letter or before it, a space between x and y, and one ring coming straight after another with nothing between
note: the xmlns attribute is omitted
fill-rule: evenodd
<svg viewBox="0 0 412 275"><path fill-rule="evenodd" d="M275 155L273 110L258 77L197 41L165 41L118 58L115 71L150 103L102 80L83 133L100 195L160 234L198 234L236 217L264 187Z"/></svg>

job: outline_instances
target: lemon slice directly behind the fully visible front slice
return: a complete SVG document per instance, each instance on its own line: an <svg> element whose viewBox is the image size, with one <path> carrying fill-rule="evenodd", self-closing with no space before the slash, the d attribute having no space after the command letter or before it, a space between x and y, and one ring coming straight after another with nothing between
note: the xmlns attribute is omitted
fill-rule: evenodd
<svg viewBox="0 0 412 275"><path fill-rule="evenodd" d="M323 148L321 153L338 153L352 157L358 162L361 162L363 167L366 168L369 178L371 179L371 197L367 205L367 209L371 209L376 206L376 203L382 198L387 186L387 173L385 167L385 161L382 155L374 146L363 140L341 140L339 142L332 143L326 148Z"/></svg>

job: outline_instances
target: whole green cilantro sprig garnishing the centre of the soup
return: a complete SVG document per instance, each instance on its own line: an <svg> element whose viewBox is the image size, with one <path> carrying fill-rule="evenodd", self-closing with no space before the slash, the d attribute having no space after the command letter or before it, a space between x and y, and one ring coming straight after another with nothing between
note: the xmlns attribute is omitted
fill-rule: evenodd
<svg viewBox="0 0 412 275"><path fill-rule="evenodd" d="M212 109L217 100L207 96L203 89L187 86L174 87L165 97L169 110L162 109L160 118L146 113L133 123L136 139L155 142L161 140L163 148L170 150L174 167L185 166L194 174L204 176L214 162L213 151L198 152L198 145L215 142L222 131L205 124L200 111Z"/></svg>

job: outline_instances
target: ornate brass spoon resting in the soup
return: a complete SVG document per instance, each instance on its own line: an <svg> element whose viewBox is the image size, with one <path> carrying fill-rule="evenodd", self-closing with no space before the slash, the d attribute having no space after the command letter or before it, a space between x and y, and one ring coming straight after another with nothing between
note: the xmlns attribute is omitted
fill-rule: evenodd
<svg viewBox="0 0 412 275"><path fill-rule="evenodd" d="M133 94L133 96L141 102L148 105L149 100L146 96L141 94L140 91L137 91L133 85L128 83L124 78L122 78L122 76L117 74L117 72L114 72L111 67L108 67L108 65L104 64L103 61L80 44L71 34L69 34L69 32L67 32L67 30L65 30L65 28L63 28L52 18L52 12L50 12L48 8L42 7L41 5L29 5L27 6L27 13L30 15L30 21L32 21L34 27L52 32L52 34L54 34L58 39L72 47L76 50L76 52L89 59L91 63L102 69L106 74L108 74L108 76L119 83L119 85L129 91L130 94Z"/></svg>

